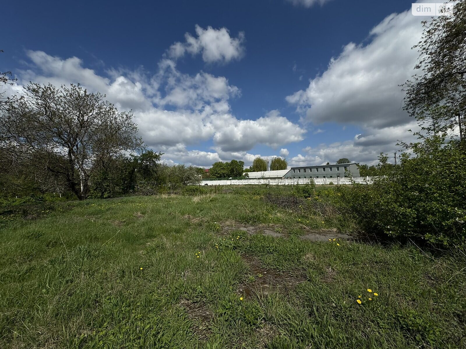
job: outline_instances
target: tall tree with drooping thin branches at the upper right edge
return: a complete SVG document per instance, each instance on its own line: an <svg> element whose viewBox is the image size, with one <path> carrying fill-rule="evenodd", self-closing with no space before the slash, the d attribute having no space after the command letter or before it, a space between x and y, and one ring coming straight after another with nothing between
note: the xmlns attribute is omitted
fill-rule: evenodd
<svg viewBox="0 0 466 349"><path fill-rule="evenodd" d="M453 7L452 16L424 21L416 69L421 74L403 85L405 110L430 133L460 125L466 110L466 1ZM427 125L425 125L427 123ZM464 135L464 134L463 134Z"/></svg>

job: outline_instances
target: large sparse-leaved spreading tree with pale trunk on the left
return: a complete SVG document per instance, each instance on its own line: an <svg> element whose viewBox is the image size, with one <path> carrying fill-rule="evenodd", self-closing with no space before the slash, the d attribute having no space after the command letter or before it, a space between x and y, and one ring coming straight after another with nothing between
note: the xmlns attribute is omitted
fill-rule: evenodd
<svg viewBox="0 0 466 349"><path fill-rule="evenodd" d="M115 158L143 149L133 115L104 98L79 85L30 83L24 98L0 116L1 138L15 145L8 157L32 158L34 168L53 174L79 200L87 198L94 176L110 171Z"/></svg>

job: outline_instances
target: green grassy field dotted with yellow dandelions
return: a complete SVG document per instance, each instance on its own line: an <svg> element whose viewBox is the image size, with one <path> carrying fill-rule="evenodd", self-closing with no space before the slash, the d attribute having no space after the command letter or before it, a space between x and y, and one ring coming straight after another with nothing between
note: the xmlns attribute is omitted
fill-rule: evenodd
<svg viewBox="0 0 466 349"><path fill-rule="evenodd" d="M3 224L0 348L466 348L463 254L302 240L351 225L246 190L74 206Z"/></svg>

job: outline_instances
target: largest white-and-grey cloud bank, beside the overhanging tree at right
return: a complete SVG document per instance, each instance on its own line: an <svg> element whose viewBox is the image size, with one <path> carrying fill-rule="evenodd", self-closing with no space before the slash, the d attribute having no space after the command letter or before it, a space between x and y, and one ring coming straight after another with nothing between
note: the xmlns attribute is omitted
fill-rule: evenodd
<svg viewBox="0 0 466 349"><path fill-rule="evenodd" d="M380 152L397 150L398 140L413 139L408 130L417 124L403 110L399 85L415 74L418 52L411 47L421 33L420 19L411 11L393 13L370 31L367 43L347 44L305 90L286 97L305 123L352 124L362 130L352 140L332 138L336 143L306 148L304 155L290 159L293 165L342 157L374 162Z"/></svg>

